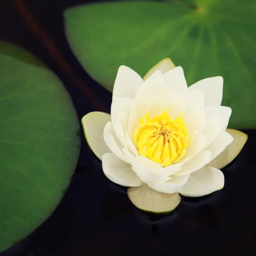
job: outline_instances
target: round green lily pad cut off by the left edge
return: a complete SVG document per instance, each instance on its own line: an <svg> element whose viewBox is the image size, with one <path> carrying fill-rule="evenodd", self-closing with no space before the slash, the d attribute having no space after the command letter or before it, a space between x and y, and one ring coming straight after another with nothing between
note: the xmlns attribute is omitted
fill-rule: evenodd
<svg viewBox="0 0 256 256"><path fill-rule="evenodd" d="M0 251L48 218L79 155L79 122L70 96L40 66L28 52L0 43Z"/></svg>

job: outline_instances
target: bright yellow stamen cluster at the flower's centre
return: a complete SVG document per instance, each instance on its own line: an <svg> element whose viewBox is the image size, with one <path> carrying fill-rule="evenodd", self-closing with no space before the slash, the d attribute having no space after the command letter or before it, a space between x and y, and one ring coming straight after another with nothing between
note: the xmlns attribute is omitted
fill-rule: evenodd
<svg viewBox="0 0 256 256"><path fill-rule="evenodd" d="M163 167L176 163L186 154L188 144L183 114L173 120L165 110L150 119L147 111L134 131L134 143L140 155Z"/></svg>

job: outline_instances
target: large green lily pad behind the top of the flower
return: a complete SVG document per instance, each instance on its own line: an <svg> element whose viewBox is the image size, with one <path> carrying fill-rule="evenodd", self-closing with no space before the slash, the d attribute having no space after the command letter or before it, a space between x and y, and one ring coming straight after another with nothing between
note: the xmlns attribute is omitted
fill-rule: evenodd
<svg viewBox="0 0 256 256"><path fill-rule="evenodd" d="M254 0L120 1L65 12L70 46L93 79L112 90L120 65L141 76L163 58L188 84L224 77L232 128L256 127Z"/></svg>

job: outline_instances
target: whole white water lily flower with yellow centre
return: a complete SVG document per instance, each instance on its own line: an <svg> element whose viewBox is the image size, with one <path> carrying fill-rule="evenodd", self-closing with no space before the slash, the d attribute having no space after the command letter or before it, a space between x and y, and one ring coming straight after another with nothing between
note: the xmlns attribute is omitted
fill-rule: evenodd
<svg viewBox="0 0 256 256"><path fill-rule="evenodd" d="M111 114L82 119L92 151L105 175L129 187L138 208L170 212L180 194L201 197L222 189L221 168L243 148L247 135L227 129L231 108L221 106L223 78L187 86L182 67L169 58L142 79L119 67Z"/></svg>

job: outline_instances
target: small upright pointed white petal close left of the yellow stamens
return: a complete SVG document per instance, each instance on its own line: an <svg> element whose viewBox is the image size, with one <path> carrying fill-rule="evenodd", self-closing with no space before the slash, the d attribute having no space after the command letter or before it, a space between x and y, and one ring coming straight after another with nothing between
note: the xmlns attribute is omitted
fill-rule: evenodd
<svg viewBox="0 0 256 256"><path fill-rule="evenodd" d="M128 126L128 117L127 112L124 111L119 114L119 116L116 118L116 121L113 123L113 129L116 133L116 137L121 142L122 146L125 148L128 148L127 140L125 136L125 129Z"/></svg>

